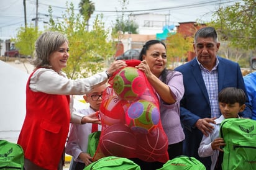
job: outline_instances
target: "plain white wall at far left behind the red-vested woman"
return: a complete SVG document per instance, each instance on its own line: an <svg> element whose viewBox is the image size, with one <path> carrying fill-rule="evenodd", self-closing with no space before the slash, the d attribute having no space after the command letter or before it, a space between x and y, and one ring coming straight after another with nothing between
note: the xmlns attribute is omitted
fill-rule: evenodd
<svg viewBox="0 0 256 170"><path fill-rule="evenodd" d="M28 76L0 60L0 139L19 135L25 117L25 84Z"/></svg>

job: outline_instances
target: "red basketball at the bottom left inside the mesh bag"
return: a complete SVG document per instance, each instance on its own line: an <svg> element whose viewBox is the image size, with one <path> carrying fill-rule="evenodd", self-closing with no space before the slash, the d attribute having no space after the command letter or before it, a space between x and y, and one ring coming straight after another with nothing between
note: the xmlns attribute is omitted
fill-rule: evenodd
<svg viewBox="0 0 256 170"><path fill-rule="evenodd" d="M136 138L129 127L114 124L104 129L99 147L105 156L134 157Z"/></svg>

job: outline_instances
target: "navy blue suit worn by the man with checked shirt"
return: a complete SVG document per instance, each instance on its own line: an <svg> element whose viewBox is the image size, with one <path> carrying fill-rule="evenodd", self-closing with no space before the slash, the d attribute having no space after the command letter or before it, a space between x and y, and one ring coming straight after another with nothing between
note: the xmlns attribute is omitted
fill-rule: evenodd
<svg viewBox="0 0 256 170"><path fill-rule="evenodd" d="M245 91L244 79L240 70L240 66L225 58L217 56L219 65L217 66L218 72L218 86L219 91L225 87L237 87ZM211 166L209 158L202 159L198 156L198 148L201 142L203 133L194 124L198 119L205 117L211 118L211 106L209 102L208 92L204 84L203 76L199 68L196 58L181 65L175 69L183 74L183 83L185 87L185 94L181 100L181 122L185 131L185 143L183 154L194 156L200 159L203 163ZM247 95L246 91L245 94ZM247 104L249 104L247 100ZM240 113L242 117L252 117L252 110L246 107L245 111Z"/></svg>

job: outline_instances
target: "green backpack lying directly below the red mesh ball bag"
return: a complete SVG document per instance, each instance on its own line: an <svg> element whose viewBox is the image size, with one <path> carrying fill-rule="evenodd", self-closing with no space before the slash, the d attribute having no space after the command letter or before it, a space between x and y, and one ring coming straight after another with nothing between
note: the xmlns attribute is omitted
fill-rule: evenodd
<svg viewBox="0 0 256 170"><path fill-rule="evenodd" d="M86 166L84 170L89 169L122 169L122 170L140 170L140 166L127 158L120 158L116 156L107 156L95 161L94 163Z"/></svg>

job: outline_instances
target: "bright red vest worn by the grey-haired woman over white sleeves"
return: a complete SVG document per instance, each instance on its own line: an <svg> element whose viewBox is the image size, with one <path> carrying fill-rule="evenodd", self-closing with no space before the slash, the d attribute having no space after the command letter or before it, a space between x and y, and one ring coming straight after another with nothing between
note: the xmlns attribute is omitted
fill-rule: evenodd
<svg viewBox="0 0 256 170"><path fill-rule="evenodd" d="M17 143L25 158L45 169L57 169L70 125L70 97L33 92L26 87L26 115Z"/></svg>

